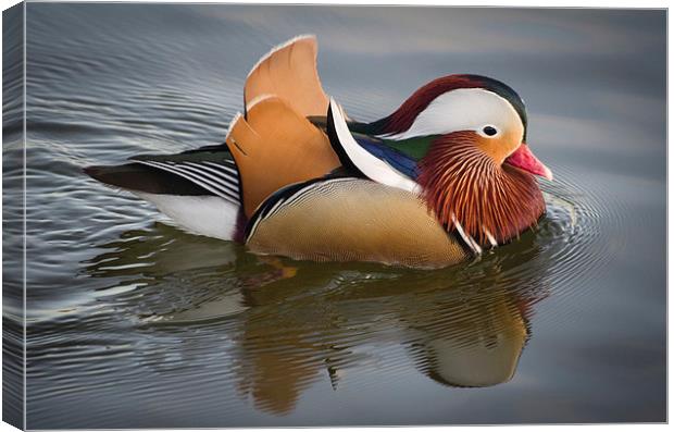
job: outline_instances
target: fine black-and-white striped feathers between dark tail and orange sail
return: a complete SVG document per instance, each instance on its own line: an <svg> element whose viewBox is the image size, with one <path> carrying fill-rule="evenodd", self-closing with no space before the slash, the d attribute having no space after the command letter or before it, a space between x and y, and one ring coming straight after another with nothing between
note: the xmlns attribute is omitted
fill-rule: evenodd
<svg viewBox="0 0 674 432"><path fill-rule="evenodd" d="M151 160L135 162L179 175L227 201L239 205L239 174L234 161L225 159L222 162Z"/></svg>

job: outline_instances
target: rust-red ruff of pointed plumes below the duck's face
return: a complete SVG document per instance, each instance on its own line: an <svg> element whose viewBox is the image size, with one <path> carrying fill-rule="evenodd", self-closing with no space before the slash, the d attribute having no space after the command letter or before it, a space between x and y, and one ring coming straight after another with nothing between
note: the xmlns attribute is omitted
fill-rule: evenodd
<svg viewBox="0 0 674 432"><path fill-rule="evenodd" d="M448 231L459 222L465 234L502 244L536 224L545 201L536 180L510 165L497 165L471 141L470 133L437 139L420 161L423 198Z"/></svg>

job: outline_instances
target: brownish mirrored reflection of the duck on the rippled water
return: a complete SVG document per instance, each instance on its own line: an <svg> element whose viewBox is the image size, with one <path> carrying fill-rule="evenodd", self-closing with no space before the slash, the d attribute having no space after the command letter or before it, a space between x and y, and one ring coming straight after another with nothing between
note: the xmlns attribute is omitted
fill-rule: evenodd
<svg viewBox="0 0 674 432"><path fill-rule="evenodd" d="M322 380L338 391L350 369L400 373L394 368L401 359L373 346L401 347L408 369L444 385L506 383L531 337L534 305L550 291L546 254L533 234L509 245L509 254L437 271L265 260L161 223L100 247L108 251L87 261L86 272L142 281L143 303L128 306L140 325L185 331L208 322L214 334L228 332L234 348L208 349L229 350L234 361L223 368L234 371L238 393L274 415L291 412ZM220 322L226 325L215 330ZM194 349L189 334L183 337L165 349Z"/></svg>

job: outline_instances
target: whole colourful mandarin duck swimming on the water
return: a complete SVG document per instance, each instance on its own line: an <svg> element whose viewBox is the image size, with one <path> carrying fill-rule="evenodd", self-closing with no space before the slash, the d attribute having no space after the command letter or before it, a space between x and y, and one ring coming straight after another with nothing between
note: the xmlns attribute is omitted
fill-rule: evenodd
<svg viewBox="0 0 674 432"><path fill-rule="evenodd" d="M536 225L534 175L552 174L512 88L449 75L362 123L324 92L316 58L314 36L264 55L222 145L85 172L188 232L299 260L440 268Z"/></svg>

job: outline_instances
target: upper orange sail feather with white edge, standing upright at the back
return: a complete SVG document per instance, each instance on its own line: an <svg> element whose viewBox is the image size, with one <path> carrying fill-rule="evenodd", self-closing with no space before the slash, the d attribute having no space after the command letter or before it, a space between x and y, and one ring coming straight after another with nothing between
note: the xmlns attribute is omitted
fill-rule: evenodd
<svg viewBox="0 0 674 432"><path fill-rule="evenodd" d="M288 101L302 116L325 115L328 98L323 91L315 36L303 35L282 44L253 66L244 88L245 113L254 101L276 96Z"/></svg>

